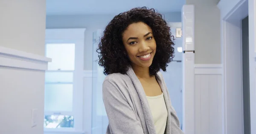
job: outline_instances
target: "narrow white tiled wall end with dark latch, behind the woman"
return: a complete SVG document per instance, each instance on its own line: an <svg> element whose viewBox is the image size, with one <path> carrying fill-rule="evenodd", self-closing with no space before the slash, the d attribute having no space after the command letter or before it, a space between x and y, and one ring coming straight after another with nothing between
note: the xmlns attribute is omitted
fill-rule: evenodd
<svg viewBox="0 0 256 134"><path fill-rule="evenodd" d="M195 6L183 5L183 132L195 134Z"/></svg>

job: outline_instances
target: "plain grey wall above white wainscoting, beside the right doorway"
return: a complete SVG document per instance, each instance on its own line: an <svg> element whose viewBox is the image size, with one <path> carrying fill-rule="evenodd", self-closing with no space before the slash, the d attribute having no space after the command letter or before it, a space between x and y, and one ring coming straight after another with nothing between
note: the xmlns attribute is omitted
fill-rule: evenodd
<svg viewBox="0 0 256 134"><path fill-rule="evenodd" d="M219 0L186 0L195 6L195 64L221 64Z"/></svg>

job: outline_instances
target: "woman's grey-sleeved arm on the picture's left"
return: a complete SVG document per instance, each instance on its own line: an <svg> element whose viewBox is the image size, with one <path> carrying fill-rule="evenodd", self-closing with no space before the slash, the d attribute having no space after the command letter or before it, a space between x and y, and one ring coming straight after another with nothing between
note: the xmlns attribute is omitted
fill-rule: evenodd
<svg viewBox="0 0 256 134"><path fill-rule="evenodd" d="M116 84L104 81L102 96L113 134L143 134L141 123Z"/></svg>

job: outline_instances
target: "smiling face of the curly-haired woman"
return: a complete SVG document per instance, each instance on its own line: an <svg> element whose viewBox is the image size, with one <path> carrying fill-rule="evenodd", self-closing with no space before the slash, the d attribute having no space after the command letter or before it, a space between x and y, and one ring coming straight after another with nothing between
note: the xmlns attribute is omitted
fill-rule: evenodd
<svg viewBox="0 0 256 134"><path fill-rule="evenodd" d="M143 22L132 23L124 31L122 41L132 67L150 67L156 53L151 28Z"/></svg>

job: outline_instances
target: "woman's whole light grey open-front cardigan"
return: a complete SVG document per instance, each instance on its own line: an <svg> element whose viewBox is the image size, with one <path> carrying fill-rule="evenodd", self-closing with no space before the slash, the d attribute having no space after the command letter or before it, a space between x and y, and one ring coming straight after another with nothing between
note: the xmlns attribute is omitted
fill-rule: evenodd
<svg viewBox="0 0 256 134"><path fill-rule="evenodd" d="M165 134L183 134L162 74L158 72L156 78L168 111ZM124 75L108 75L102 85L102 95L109 120L106 134L156 134L148 100L131 67Z"/></svg>

